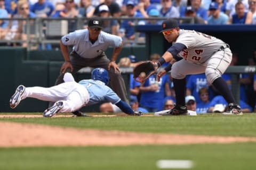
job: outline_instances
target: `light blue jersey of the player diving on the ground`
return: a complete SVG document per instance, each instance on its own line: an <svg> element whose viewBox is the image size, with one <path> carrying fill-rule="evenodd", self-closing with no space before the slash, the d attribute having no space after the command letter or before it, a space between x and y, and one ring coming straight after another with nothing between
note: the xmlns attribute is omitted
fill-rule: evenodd
<svg viewBox="0 0 256 170"><path fill-rule="evenodd" d="M116 104L121 101L118 95L100 80L86 79L78 83L83 85L89 92L90 100L86 105L92 105L101 101Z"/></svg>

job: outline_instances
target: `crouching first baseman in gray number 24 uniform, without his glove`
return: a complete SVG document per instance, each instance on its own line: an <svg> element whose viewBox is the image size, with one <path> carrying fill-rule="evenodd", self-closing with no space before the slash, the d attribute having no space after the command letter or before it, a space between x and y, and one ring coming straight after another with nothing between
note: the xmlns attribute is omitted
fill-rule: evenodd
<svg viewBox="0 0 256 170"><path fill-rule="evenodd" d="M185 76L200 73L205 73L207 81L228 102L228 110L223 114L242 115L240 106L221 77L232 59L229 45L218 38L195 30L180 29L178 22L174 19L163 21L161 33L167 42L172 43L172 46L159 60L154 62L156 68L165 62L170 62L166 68L158 72L157 79L159 80L167 71L171 70L176 94L176 105L166 115L188 114L185 103Z"/></svg>

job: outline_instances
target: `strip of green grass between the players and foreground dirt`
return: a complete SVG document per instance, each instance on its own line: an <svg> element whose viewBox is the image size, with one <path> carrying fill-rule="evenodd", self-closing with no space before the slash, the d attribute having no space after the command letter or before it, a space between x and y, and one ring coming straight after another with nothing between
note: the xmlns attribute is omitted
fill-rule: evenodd
<svg viewBox="0 0 256 170"><path fill-rule="evenodd" d="M0 121L133 132L256 136L256 114L244 114L243 116L209 114L167 117L0 118Z"/></svg>

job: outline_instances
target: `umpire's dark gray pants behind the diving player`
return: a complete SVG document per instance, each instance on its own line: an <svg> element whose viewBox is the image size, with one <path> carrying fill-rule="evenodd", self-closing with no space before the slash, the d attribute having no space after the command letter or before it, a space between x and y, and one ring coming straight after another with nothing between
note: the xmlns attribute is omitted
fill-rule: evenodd
<svg viewBox="0 0 256 170"><path fill-rule="evenodd" d="M79 56L76 52L70 53L70 61L73 66L73 76L76 74L78 70L84 67L92 67L92 68L104 68L108 70L108 64L110 60L107 58L107 55L105 52L103 52L101 55L97 56L97 58L94 59L84 59L81 56ZM70 72L70 69L67 69L66 72ZM114 92L126 103L129 103L125 83L123 76L119 72L114 72L113 68L110 68L108 70L109 78L110 78L110 85ZM64 74L60 74L57 78L55 85L58 85L60 83L63 83L63 76Z"/></svg>

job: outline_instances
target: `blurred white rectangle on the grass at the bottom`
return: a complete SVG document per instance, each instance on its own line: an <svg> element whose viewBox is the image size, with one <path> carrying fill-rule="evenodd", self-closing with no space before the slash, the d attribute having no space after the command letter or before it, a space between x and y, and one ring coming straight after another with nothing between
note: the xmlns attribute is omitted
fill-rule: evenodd
<svg viewBox="0 0 256 170"><path fill-rule="evenodd" d="M191 160L158 160L156 166L162 169L181 168L188 169L193 167L193 161Z"/></svg>

